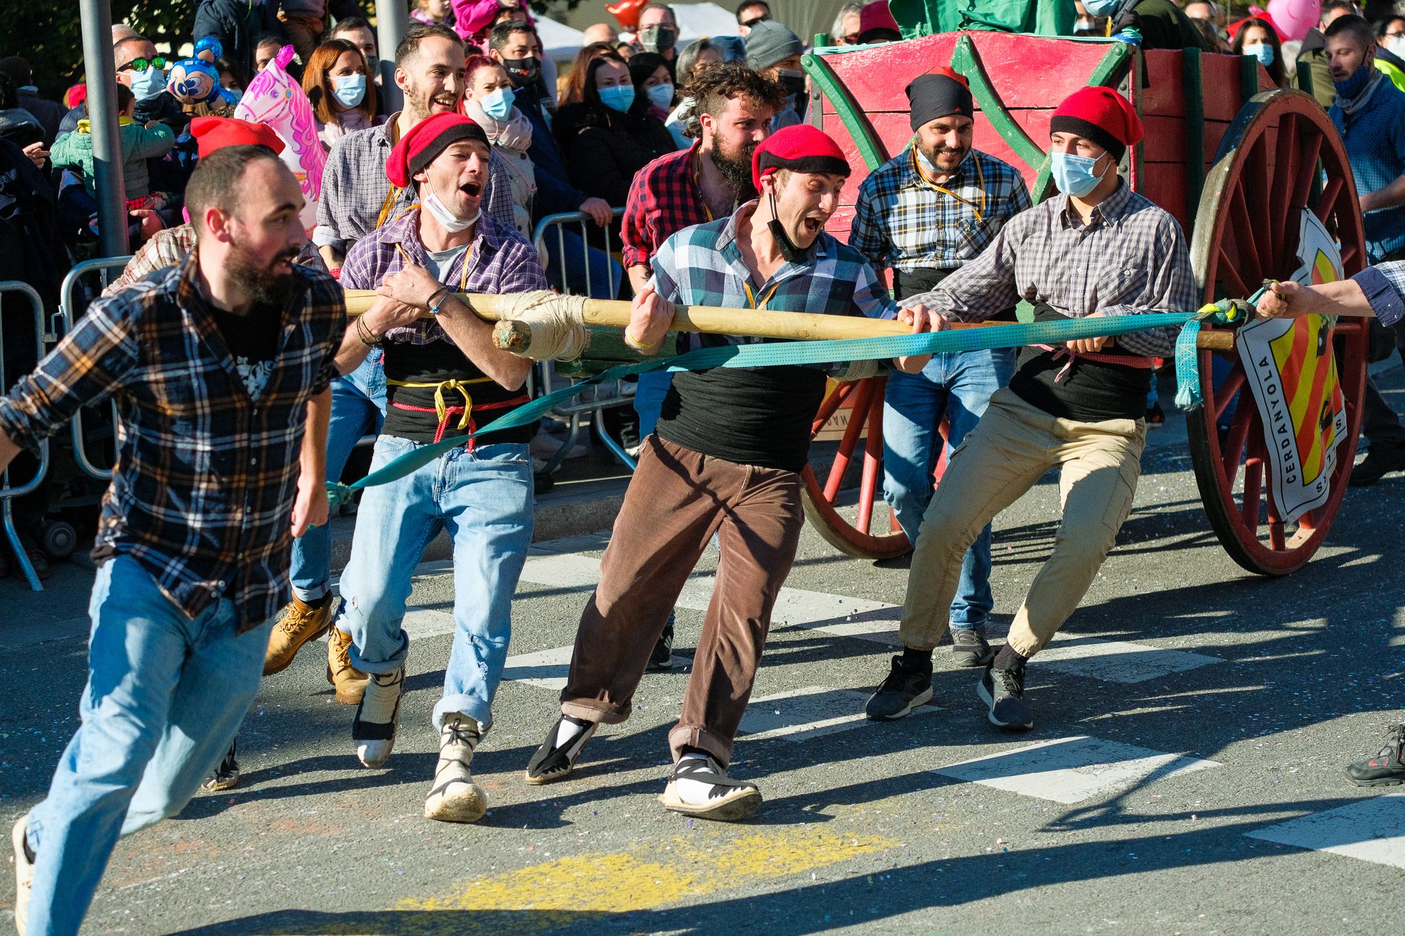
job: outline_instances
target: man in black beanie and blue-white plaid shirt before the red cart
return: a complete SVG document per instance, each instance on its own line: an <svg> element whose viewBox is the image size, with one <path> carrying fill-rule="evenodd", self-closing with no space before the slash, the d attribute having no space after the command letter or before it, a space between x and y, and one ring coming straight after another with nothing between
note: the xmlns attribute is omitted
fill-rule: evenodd
<svg viewBox="0 0 1405 936"><path fill-rule="evenodd" d="M1020 173L971 149L974 131L967 80L948 67L908 86L912 146L878 167L858 187L849 246L875 267L892 268L896 299L936 288L975 260L1010 218L1030 206ZM1009 316L1014 319L1013 310ZM985 413L991 394L1010 383L1014 351L961 351L933 355L922 373L888 375L884 397L884 500L908 542L917 542L932 502L937 464L937 427L947 421L947 453L961 445ZM953 661L984 667L991 661L991 528L981 530L961 564L961 587L951 602ZM930 681L932 654L894 657L892 674L868 700L867 714L892 720L932 695L892 692L894 685ZM889 685L892 683L892 685Z"/></svg>

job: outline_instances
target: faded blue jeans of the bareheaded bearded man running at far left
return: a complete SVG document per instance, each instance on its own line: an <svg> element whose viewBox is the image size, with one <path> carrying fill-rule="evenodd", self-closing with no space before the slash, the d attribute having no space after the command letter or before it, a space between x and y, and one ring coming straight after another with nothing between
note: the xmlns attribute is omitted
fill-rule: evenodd
<svg viewBox="0 0 1405 936"><path fill-rule="evenodd" d="M98 568L89 615L83 723L28 817L31 936L77 933L118 835L195 794L259 690L273 630L236 634L228 598L187 617L128 556Z"/></svg>

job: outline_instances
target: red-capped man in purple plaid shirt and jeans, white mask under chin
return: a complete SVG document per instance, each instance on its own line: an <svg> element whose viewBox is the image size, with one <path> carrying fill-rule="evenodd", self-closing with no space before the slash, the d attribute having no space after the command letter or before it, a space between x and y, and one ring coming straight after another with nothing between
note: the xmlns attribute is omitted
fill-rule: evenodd
<svg viewBox="0 0 1405 936"><path fill-rule="evenodd" d="M457 293L547 289L537 251L511 225L481 210L489 143L482 126L437 114L400 138L385 171L419 188L422 208L378 227L347 254L341 283L378 289L382 306L429 319L377 334L355 323L358 355L385 344L389 407L371 470L443 439L464 445L405 477L371 487L357 514L341 575L339 627L351 664L371 675L351 738L364 766L391 756L410 639L400 626L424 544L454 540L454 647L434 706L440 758L424 817L473 822L488 808L469 765L493 721L493 695L507 661L511 601L532 530L532 427L469 436L527 403L531 361L493 345L493 328ZM347 342L350 347L350 342ZM340 366L353 365L346 351Z"/></svg>

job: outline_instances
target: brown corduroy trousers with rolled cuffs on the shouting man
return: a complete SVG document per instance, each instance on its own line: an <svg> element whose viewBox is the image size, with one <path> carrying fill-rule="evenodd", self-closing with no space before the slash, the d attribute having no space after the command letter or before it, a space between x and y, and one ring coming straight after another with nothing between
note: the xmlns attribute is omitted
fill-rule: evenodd
<svg viewBox="0 0 1405 936"><path fill-rule="evenodd" d="M606 724L629 717L669 612L717 533L717 588L669 748L674 761L683 748L697 748L729 763L805 523L799 490L795 472L725 462L658 435L645 439L600 563L600 585L580 616L561 710Z"/></svg>

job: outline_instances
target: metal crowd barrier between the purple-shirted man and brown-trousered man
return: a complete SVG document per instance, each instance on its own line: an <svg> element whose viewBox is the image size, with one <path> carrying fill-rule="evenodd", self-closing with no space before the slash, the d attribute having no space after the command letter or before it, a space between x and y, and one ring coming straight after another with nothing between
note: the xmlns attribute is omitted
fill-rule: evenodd
<svg viewBox="0 0 1405 936"><path fill-rule="evenodd" d="M624 216L622 208L615 208L613 209L613 212L614 212L613 218L615 220ZM582 267L584 268L583 278L579 275L572 278L570 268L562 260L563 257L566 257L566 251L570 248L566 241L568 227L579 229L579 237L580 237L579 248L582 251L580 257ZM555 262L561 264L559 275L561 275L562 292L572 296L590 296L594 295L594 286L597 279L592 272L593 264L590 262L592 260L590 257L592 247L589 239L590 232L601 232L604 234L603 253L606 254L606 257L610 258L610 262L607 264L610 279L607 281L607 283L600 283L600 285L608 286L607 288L607 292L610 293L608 297L613 299L618 293L620 286L622 285L624 281L622 279L620 282L614 281L615 261L614 261L614 250L611 244L613 239L610 236L610 227L603 227L603 229L597 227L594 220L592 220L590 215L584 212L562 212L559 215L548 215L537 223L537 227L532 232L532 244L537 247L537 254L541 257L542 265L548 265L551 262L548 261L547 247L549 246L556 247ZM555 240L551 241L548 240L548 237L554 237ZM599 247L594 250L601 251L601 248ZM621 276L625 276L622 271ZM534 396L538 396L540 393L551 393L552 390L556 390L562 386L569 386L569 383L575 383L575 380L568 380L568 383L562 383L562 380L563 377L556 375L555 365L552 362L548 361L544 363L538 363L535 368L532 368L531 392ZM614 453L614 456L621 462L624 462L624 464L632 472L635 467L635 460L629 457L628 452L624 450L624 446L620 445L620 442L614 439L610 435L610 432L606 431L606 424L604 424L606 410L622 406L632 406L632 404L634 404L634 385L625 380L614 380L611 383L603 383L600 386L596 386L593 387L593 390L587 390L586 394L579 397L576 401L552 410L551 411L552 415L556 415L562 421L568 422L569 432L566 435L565 445L562 445L556 450L556 453L547 460L547 464L542 470L549 474L561 466L562 460L565 460L566 457L566 453L570 452L570 449L576 445L576 441L580 436L580 429L582 429L580 417L586 417L587 420L594 421L596 431L600 434L600 439L606 443L606 448L608 448Z"/></svg>

